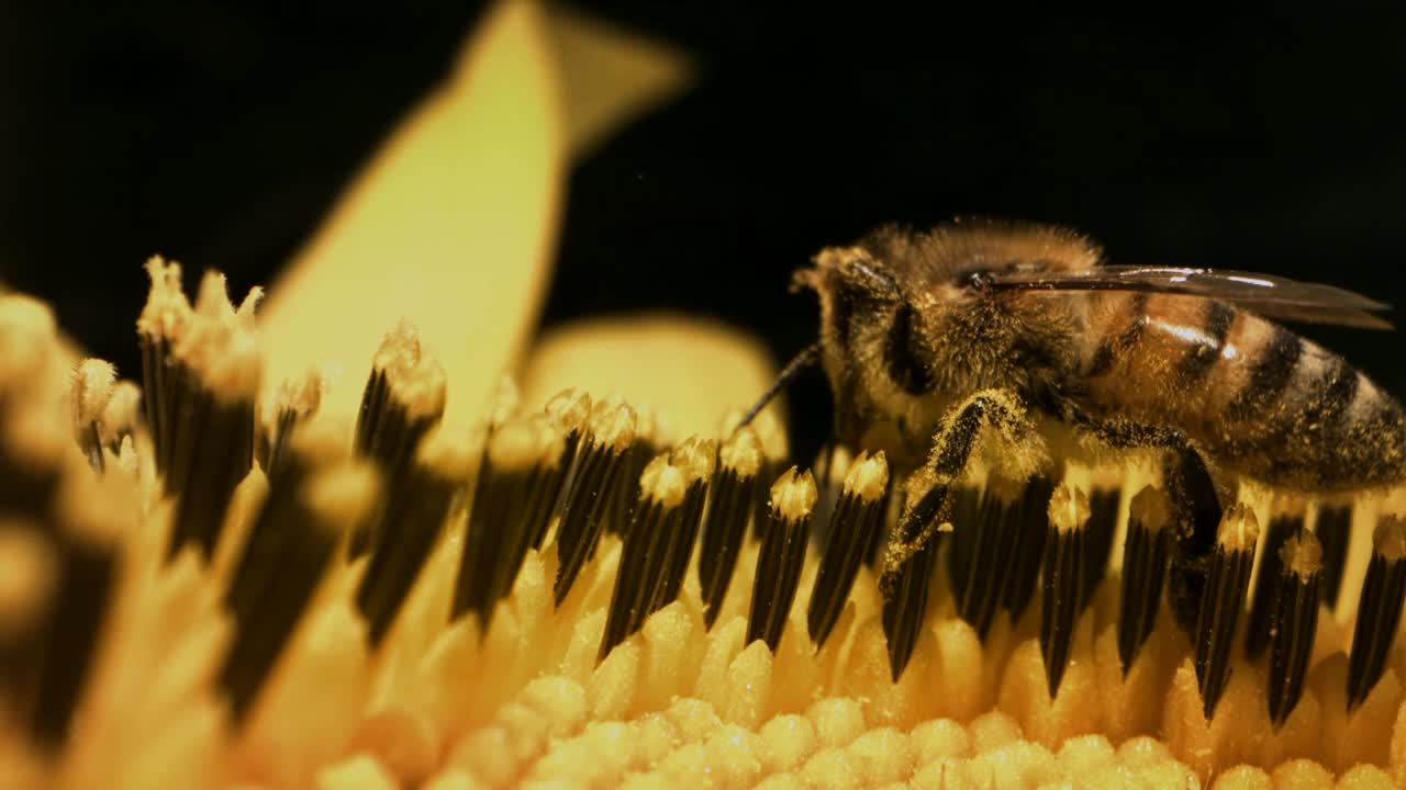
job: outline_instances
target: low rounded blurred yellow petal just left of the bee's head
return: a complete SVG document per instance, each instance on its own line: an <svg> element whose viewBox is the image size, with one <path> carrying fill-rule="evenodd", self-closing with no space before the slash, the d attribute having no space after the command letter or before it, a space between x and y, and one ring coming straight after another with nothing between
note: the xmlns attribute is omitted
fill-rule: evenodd
<svg viewBox="0 0 1406 790"><path fill-rule="evenodd" d="M662 313L595 319L541 339L523 373L523 402L581 387L655 408L673 439L714 436L728 410L751 406L775 377L761 344L720 322Z"/></svg>

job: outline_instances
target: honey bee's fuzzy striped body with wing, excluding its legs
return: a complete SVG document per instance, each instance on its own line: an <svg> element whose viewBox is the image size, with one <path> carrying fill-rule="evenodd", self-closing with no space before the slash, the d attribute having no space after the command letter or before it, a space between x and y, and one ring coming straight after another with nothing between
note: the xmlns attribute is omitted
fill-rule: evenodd
<svg viewBox="0 0 1406 790"><path fill-rule="evenodd" d="M1305 493L1406 481L1400 405L1274 320L1391 326L1350 291L1107 266L1077 232L997 221L880 228L821 250L793 288L820 297L821 326L783 378L818 361L835 437L898 470L936 461L942 420L1001 391L1116 446L1184 446L1218 477Z"/></svg>

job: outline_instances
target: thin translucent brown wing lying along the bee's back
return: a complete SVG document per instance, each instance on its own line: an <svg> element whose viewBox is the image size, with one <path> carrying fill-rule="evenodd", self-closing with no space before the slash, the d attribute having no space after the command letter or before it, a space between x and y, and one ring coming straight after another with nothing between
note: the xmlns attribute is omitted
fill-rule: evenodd
<svg viewBox="0 0 1406 790"><path fill-rule="evenodd" d="M1146 291L1234 302L1264 318L1391 329L1372 312L1388 305L1354 291L1272 274L1170 266L1101 266L1074 271L991 273L993 288L1018 291Z"/></svg>

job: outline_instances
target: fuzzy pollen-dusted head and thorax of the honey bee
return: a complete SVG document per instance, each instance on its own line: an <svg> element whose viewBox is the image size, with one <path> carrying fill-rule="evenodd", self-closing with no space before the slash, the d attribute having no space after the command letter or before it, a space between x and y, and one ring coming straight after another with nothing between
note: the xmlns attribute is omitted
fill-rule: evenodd
<svg viewBox="0 0 1406 790"><path fill-rule="evenodd" d="M965 224L882 228L853 246L821 250L793 288L820 298L838 434L852 440L887 423L925 441L928 417L955 399L991 388L1047 389L1074 354L1073 302L1002 290L998 277L1083 263L1087 249L1054 229Z"/></svg>

